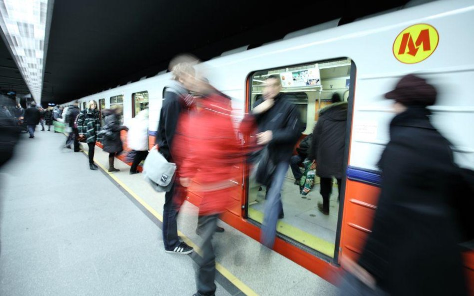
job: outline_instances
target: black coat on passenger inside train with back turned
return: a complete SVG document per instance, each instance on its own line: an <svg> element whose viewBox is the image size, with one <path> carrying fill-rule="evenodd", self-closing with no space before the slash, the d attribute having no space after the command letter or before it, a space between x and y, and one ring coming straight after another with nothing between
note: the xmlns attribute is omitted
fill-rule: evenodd
<svg viewBox="0 0 474 296"><path fill-rule="evenodd" d="M316 160L317 176L342 178L346 121L347 102L334 103L319 111L308 155Z"/></svg>

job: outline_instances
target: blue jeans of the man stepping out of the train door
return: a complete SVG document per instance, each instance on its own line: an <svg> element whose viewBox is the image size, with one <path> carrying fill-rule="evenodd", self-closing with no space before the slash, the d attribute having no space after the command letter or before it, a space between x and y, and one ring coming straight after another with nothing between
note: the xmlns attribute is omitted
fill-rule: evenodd
<svg viewBox="0 0 474 296"><path fill-rule="evenodd" d="M273 244L275 243L276 222L278 222L278 215L283 212L280 191L281 187L283 186L284 175L286 174L287 170L287 162L280 162L276 165L275 172L271 178L270 188L268 188L268 193L266 195L260 243L270 249L273 248Z"/></svg>

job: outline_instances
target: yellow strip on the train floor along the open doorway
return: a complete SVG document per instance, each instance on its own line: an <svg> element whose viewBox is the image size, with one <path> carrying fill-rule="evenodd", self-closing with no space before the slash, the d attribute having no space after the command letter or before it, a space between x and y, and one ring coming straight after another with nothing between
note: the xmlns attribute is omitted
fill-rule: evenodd
<svg viewBox="0 0 474 296"><path fill-rule="evenodd" d="M248 208L248 217L250 217L251 219L259 223L263 222L263 213L258 210ZM334 256L334 244L331 244L323 239L315 237L281 220L279 220L278 223L276 224L276 229L278 230L279 233L289 238L292 238L293 240L300 242L311 249L317 250L321 252L322 254L327 255L331 258L332 256Z"/></svg>

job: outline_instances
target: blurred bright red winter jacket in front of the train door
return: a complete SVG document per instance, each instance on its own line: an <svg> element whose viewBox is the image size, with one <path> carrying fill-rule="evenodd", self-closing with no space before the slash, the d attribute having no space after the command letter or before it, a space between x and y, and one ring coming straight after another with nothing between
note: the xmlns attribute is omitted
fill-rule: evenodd
<svg viewBox="0 0 474 296"><path fill-rule="evenodd" d="M241 147L233 129L230 99L213 91L201 104L201 111L181 117L173 149L184 152L182 162L178 157L179 176L191 178L189 190L202 198L199 215L212 215L222 213L233 192L240 189L233 166L241 161L237 157Z"/></svg>

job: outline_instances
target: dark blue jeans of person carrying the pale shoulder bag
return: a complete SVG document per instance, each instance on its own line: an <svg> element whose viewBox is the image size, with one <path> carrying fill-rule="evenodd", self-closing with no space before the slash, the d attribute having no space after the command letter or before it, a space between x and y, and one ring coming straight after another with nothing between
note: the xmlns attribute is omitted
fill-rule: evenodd
<svg viewBox="0 0 474 296"><path fill-rule="evenodd" d="M182 194L182 187L179 185L178 180L175 180L171 186L171 190L164 194L164 206L163 206L163 244L164 249L167 251L173 250L177 245L180 244L179 237L177 236L177 224L176 219L179 212L179 207L174 200L174 194ZM180 198L180 196L176 197Z"/></svg>

